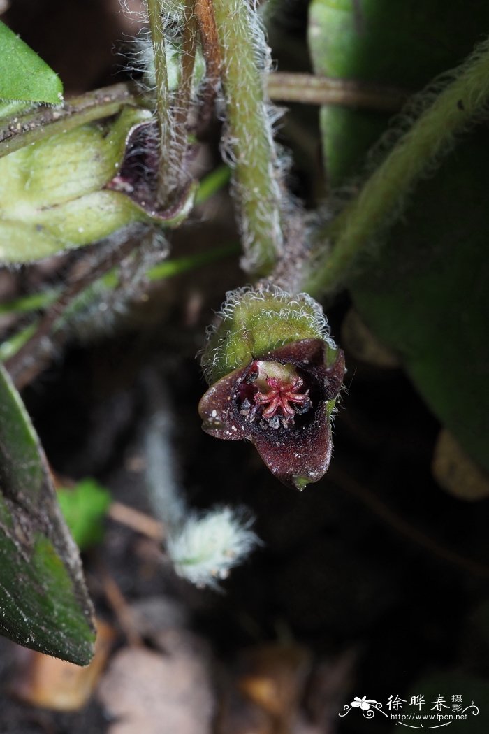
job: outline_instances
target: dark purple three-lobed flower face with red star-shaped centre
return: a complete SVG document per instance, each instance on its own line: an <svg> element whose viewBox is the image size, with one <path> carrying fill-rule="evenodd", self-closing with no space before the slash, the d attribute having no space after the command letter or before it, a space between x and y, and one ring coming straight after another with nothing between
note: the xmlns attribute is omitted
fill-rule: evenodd
<svg viewBox="0 0 489 734"><path fill-rule="evenodd" d="M261 355L212 385L199 404L203 429L226 440L248 439L281 482L303 490L331 460L331 413L342 386L341 349L302 339Z"/></svg>

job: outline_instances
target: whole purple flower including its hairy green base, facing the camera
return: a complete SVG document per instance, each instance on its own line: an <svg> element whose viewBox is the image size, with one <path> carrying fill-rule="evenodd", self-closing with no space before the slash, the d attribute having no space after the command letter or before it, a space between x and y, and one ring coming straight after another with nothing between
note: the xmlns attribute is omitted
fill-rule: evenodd
<svg viewBox="0 0 489 734"><path fill-rule="evenodd" d="M203 363L207 433L251 440L272 473L299 490L323 476L345 361L315 301L272 286L228 294Z"/></svg>

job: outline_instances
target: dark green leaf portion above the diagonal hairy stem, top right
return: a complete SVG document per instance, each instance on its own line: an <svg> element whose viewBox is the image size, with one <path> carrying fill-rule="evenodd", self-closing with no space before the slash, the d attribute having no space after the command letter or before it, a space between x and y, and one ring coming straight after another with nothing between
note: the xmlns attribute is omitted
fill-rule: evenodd
<svg viewBox="0 0 489 734"><path fill-rule="evenodd" d="M454 68L489 29L489 5L452 0L312 0L309 46L315 73L386 84L416 92ZM320 124L330 186L340 186L364 167L367 150L385 130L389 115L325 106Z"/></svg>

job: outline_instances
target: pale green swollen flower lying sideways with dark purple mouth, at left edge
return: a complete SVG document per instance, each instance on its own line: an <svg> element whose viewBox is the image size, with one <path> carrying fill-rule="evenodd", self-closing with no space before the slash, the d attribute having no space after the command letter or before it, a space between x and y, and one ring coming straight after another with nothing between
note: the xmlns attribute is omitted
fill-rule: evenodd
<svg viewBox="0 0 489 734"><path fill-rule="evenodd" d="M115 120L45 137L1 158L0 261L39 260L132 222L177 223L182 208L168 216L152 200L150 117L127 106Z"/></svg>

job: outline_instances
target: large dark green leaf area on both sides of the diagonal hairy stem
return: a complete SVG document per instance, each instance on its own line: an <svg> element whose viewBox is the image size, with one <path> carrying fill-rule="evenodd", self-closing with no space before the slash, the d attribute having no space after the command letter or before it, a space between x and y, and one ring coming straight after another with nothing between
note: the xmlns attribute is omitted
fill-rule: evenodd
<svg viewBox="0 0 489 734"><path fill-rule="evenodd" d="M454 68L489 29L489 5L455 0L313 0L309 42L317 73L419 90ZM395 32L393 32L395 28ZM406 124L406 121L404 121ZM325 107L323 150L330 183L365 167L388 117ZM423 181L350 291L362 319L403 366L439 420L486 469L489 343L487 189L489 146L478 134ZM372 162L369 163L372 168Z"/></svg>

